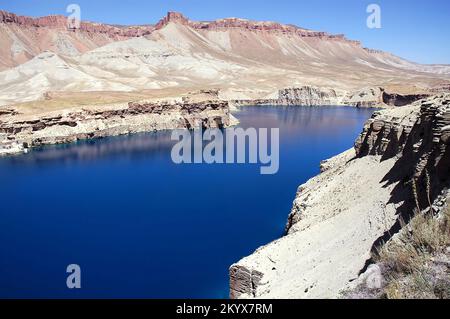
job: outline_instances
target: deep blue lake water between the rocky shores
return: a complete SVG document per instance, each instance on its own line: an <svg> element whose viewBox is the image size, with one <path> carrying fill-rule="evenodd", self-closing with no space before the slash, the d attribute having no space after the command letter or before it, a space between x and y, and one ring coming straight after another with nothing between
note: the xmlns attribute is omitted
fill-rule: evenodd
<svg viewBox="0 0 450 319"><path fill-rule="evenodd" d="M0 159L1 298L226 298L228 267L282 235L297 187L353 145L373 110L246 107L280 128L280 170L175 165L170 133ZM82 288L66 287L81 266Z"/></svg>

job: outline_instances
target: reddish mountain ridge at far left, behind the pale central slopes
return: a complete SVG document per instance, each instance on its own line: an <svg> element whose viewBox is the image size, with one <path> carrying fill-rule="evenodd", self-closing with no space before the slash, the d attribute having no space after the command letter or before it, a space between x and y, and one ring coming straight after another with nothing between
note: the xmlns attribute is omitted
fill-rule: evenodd
<svg viewBox="0 0 450 319"><path fill-rule="evenodd" d="M26 62L46 50L72 56L142 36L153 29L150 25L119 27L82 22L79 30L70 30L67 17L62 15L30 18L0 10L0 70Z"/></svg>

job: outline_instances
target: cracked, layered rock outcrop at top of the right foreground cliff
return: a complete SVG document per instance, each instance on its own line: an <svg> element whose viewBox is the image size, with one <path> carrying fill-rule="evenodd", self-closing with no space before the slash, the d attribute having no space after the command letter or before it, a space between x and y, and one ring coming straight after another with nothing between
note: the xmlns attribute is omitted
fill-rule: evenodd
<svg viewBox="0 0 450 319"><path fill-rule="evenodd" d="M447 149L450 129L450 94L422 100L384 114L376 112L355 142L358 156L407 153L441 158ZM417 163L420 167L424 164Z"/></svg>

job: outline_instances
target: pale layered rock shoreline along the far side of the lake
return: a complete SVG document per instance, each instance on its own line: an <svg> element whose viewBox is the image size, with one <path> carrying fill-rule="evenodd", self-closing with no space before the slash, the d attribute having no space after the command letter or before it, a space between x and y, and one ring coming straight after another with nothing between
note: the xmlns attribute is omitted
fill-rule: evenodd
<svg viewBox="0 0 450 319"><path fill-rule="evenodd" d="M14 106L3 107L0 109L0 155L20 154L35 146L137 132L228 127L237 123L231 111L238 106L342 105L380 108L414 101L426 95L389 94L383 88L349 93L302 86L280 89L276 96L270 99L233 100L223 96L219 89L207 89L188 93L171 102L144 100L31 115Z"/></svg>

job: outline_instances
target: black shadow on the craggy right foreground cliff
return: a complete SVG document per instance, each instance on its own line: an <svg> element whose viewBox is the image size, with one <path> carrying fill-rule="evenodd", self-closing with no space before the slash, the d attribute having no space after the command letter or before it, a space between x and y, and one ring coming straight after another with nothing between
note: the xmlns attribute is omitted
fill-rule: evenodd
<svg viewBox="0 0 450 319"><path fill-rule="evenodd" d="M442 190L450 185L450 147L433 141L435 124L434 120L422 116L412 127L411 132L403 131L399 138L394 130L391 130L387 138L378 134L373 147L370 148L367 147L370 145L368 138L372 133L369 131L363 141L364 148L361 148L359 157L383 154L381 161L398 157L394 166L381 180L384 188L396 184L387 204L396 206L397 221L374 242L372 255L376 255L378 249L400 231L403 223L411 220L417 205L421 210L429 209L430 202L433 203ZM383 141L385 143L388 141L387 145L383 145ZM416 187L418 204L413 183ZM365 272L372 262L368 260L361 273Z"/></svg>

